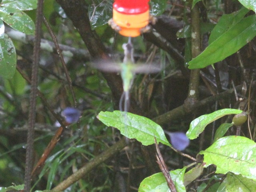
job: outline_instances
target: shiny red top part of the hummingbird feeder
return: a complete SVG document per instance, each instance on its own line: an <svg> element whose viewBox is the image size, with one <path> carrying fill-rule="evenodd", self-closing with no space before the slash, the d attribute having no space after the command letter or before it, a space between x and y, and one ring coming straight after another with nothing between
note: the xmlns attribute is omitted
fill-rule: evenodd
<svg viewBox="0 0 256 192"><path fill-rule="evenodd" d="M113 8L124 14L141 14L149 9L149 0L115 0Z"/></svg>

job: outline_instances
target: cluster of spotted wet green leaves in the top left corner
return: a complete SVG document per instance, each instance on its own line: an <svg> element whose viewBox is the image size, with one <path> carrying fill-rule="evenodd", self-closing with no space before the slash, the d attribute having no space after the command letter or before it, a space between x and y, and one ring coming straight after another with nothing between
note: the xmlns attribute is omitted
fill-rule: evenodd
<svg viewBox="0 0 256 192"><path fill-rule="evenodd" d="M0 76L10 79L16 68L16 51L12 40L4 36L4 21L25 34L34 34L34 22L23 12L36 8L37 0L3 0L0 6Z"/></svg>

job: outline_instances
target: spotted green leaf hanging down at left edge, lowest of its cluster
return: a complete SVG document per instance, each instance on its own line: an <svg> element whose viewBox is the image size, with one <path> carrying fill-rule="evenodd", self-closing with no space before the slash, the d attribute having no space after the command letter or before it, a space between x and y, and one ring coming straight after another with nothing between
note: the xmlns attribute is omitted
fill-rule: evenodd
<svg viewBox="0 0 256 192"><path fill-rule="evenodd" d="M16 51L7 35L0 39L0 76L10 79L16 69Z"/></svg>

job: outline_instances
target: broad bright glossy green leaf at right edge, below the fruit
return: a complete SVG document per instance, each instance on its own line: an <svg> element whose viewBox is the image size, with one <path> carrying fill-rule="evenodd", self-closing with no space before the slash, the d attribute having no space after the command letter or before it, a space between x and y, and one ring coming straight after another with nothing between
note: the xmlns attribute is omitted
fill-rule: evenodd
<svg viewBox="0 0 256 192"><path fill-rule="evenodd" d="M256 143L246 137L220 138L199 154L204 155L204 167L216 165L216 173L233 172L256 180Z"/></svg>

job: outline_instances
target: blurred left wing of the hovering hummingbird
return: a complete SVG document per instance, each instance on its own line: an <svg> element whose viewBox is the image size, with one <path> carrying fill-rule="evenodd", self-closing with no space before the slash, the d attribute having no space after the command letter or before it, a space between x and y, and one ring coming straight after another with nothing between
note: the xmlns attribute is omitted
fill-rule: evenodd
<svg viewBox="0 0 256 192"><path fill-rule="evenodd" d="M121 66L115 62L104 61L104 60L94 60L92 62L92 67L99 69L104 72L120 72Z"/></svg>

